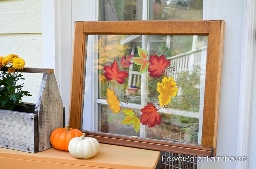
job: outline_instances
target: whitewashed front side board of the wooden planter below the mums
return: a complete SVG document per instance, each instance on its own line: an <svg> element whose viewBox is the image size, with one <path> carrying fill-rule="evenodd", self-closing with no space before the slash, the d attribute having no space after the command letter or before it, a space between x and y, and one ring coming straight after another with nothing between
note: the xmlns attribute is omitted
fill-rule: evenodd
<svg viewBox="0 0 256 169"><path fill-rule="evenodd" d="M37 114L0 110L0 147L37 152Z"/></svg>

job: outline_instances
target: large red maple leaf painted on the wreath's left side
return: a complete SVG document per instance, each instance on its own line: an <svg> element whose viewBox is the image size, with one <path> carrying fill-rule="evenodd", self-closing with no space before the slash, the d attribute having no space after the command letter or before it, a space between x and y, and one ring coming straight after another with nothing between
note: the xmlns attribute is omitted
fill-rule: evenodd
<svg viewBox="0 0 256 169"><path fill-rule="evenodd" d="M104 73L104 76L106 79L108 79L108 80L115 79L117 81L117 83L119 83L119 84L124 84L125 78L128 77L127 71L125 71L125 70L119 71L118 70L116 60L114 60L114 62L111 64L111 66L105 65L103 69L106 71Z"/></svg>

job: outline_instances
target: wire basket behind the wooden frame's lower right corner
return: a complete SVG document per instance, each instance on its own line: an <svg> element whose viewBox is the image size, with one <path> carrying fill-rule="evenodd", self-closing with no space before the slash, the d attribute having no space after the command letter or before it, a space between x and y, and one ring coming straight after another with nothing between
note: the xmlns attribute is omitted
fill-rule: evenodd
<svg viewBox="0 0 256 169"><path fill-rule="evenodd" d="M166 141L180 142L185 144L198 144L198 128L199 123L194 123L193 126L188 127L185 131L180 133L167 135ZM188 154L171 153L165 152L165 169L196 169L197 162L190 161L189 159L196 159L196 156L191 156ZM193 158L191 158L193 157ZM182 159L182 160L178 160Z"/></svg>

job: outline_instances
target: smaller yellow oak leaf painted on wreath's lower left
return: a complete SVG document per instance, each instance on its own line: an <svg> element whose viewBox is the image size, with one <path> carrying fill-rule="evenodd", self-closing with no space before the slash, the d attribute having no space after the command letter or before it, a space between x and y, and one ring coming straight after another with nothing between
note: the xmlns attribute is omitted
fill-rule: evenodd
<svg viewBox="0 0 256 169"><path fill-rule="evenodd" d="M114 90L107 88L107 102L109 104L109 109L113 111L114 114L118 113L121 110L119 106L119 100L114 93Z"/></svg>

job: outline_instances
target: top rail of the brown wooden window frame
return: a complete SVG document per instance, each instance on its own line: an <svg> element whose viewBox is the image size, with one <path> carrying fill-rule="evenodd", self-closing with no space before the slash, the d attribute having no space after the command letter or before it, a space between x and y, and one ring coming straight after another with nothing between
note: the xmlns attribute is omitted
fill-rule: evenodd
<svg viewBox="0 0 256 169"><path fill-rule="evenodd" d="M87 21L85 34L207 35L210 20Z"/></svg>

